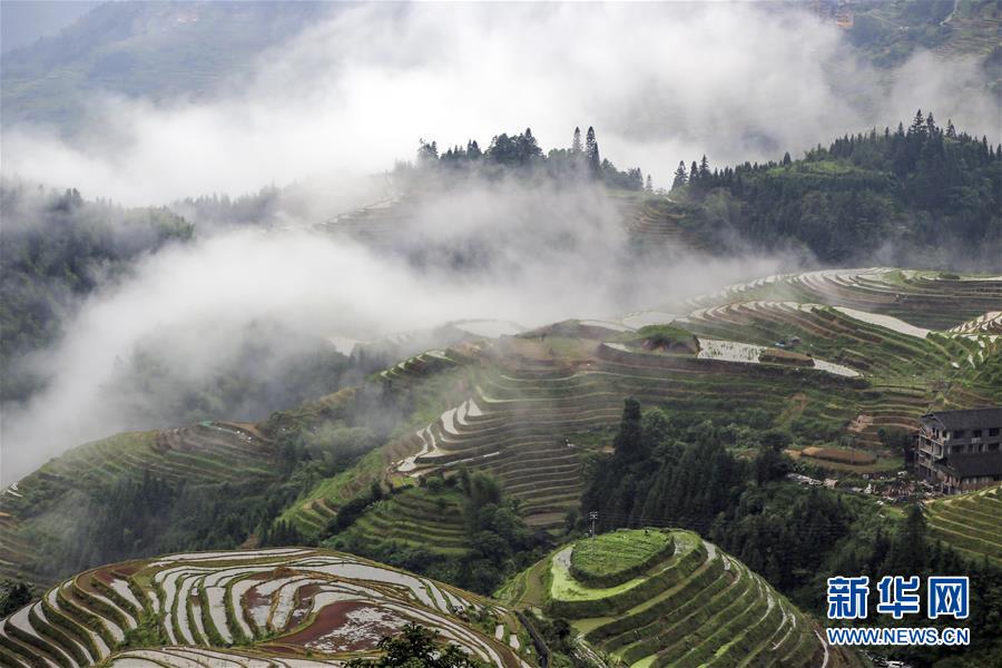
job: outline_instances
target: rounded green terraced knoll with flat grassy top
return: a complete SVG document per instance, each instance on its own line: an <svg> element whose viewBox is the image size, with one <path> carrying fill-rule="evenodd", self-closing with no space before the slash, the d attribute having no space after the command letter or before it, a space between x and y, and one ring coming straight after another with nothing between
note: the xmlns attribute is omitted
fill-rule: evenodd
<svg viewBox="0 0 1002 668"><path fill-rule="evenodd" d="M498 597L570 620L592 652L638 668L857 665L760 576L688 531L579 540Z"/></svg>

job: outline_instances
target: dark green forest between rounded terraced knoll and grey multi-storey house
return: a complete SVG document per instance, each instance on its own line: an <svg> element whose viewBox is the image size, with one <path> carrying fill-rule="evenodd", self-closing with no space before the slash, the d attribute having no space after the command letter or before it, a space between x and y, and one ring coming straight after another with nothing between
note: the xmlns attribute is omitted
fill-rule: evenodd
<svg viewBox="0 0 1002 668"><path fill-rule="evenodd" d="M1002 618L993 610L1002 608L1002 569L930 540L918 505L895 520L864 497L784 481L794 466L783 453L789 435L745 426L714 425L668 409L641 412L628 399L613 453L592 462L582 514L597 511L603 531L698 531L819 616L825 581L837 574L970 576L972 648L955 665L999 665ZM743 454L725 442L737 443ZM951 651L913 648L896 656L929 666Z"/></svg>

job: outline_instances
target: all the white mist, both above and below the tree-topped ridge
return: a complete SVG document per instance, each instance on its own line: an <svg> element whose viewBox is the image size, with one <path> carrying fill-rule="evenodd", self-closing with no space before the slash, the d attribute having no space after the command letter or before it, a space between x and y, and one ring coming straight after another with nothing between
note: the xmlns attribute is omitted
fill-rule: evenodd
<svg viewBox="0 0 1002 668"><path fill-rule="evenodd" d="M410 159L419 138L487 147L531 127L549 148L592 125L603 157L667 187L679 160L798 155L918 107L972 132L998 131L975 63L920 53L876 71L848 55L834 26L786 6L420 3L338 8L208 99L154 104L96 90L75 110L87 130L72 138L4 126L4 176L90 198L166 205L312 186L295 206L269 209L269 227L196 217L195 242L141 258L78 304L67 334L24 361L48 385L4 407L0 482L88 440L175 426L158 421L169 416L156 410L165 401L156 386L128 401L160 418L127 419L116 383L137 351L170 360L179 383L197 385L255 323L282 324L267 330L275 347L460 320L532 327L670 311L804 262L670 249L638 258L621 213L588 185L468 183L407 202L399 232L376 243L318 227L392 195L366 175ZM265 418L258 410L246 418Z"/></svg>

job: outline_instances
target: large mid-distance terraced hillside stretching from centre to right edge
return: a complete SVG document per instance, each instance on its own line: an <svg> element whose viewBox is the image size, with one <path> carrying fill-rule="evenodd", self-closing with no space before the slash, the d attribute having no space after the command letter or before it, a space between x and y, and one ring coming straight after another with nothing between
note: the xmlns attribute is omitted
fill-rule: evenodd
<svg viewBox="0 0 1002 668"><path fill-rule="evenodd" d="M485 342L459 372L465 399L403 442L410 454L394 473L487 470L531 523L553 524L577 504L589 434L616 424L627 395L711 420L760 410L805 441L853 436L893 458L880 450L882 429L913 429L931 407L1002 402L999 303L1002 277L815 272L697 297L687 315ZM696 334L699 350L659 347L654 323ZM409 377L420 386L420 374Z"/></svg>

